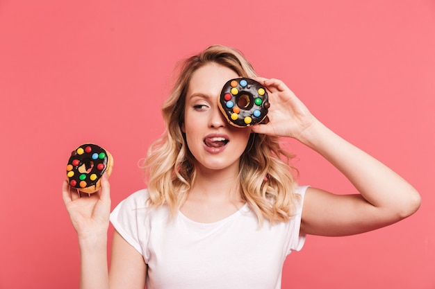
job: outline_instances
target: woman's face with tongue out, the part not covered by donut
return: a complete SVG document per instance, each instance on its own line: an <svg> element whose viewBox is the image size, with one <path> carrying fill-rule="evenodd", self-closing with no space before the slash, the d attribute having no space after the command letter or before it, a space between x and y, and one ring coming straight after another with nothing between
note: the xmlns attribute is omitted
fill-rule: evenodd
<svg viewBox="0 0 435 289"><path fill-rule="evenodd" d="M192 74L186 94L183 132L197 164L213 170L238 171L240 155L247 146L250 128L236 128L217 105L225 82L238 75L211 62Z"/></svg>

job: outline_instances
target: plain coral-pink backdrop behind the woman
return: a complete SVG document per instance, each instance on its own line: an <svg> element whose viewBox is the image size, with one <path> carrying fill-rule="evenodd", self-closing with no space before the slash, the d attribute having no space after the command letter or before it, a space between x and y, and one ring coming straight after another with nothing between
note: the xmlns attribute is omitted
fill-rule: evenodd
<svg viewBox="0 0 435 289"><path fill-rule="evenodd" d="M69 153L89 141L112 152L113 207L141 189L138 161L163 132L175 62L216 43L284 80L422 195L420 211L391 227L309 236L287 259L283 288L435 288L429 0L0 0L0 288L78 287L60 196ZM314 152L293 140L288 148L302 184L353 191Z"/></svg>

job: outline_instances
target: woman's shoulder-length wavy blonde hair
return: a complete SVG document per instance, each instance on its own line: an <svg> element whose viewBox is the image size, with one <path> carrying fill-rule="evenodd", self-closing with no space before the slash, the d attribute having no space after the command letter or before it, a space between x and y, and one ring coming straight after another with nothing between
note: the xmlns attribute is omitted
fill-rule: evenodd
<svg viewBox="0 0 435 289"><path fill-rule="evenodd" d="M150 207L166 204L172 216L186 200L195 180L195 159L188 150L181 131L184 120L186 91L192 74L205 64L215 62L232 69L245 78L256 72L242 53L228 46L213 45L177 66L177 80L163 104L165 133L151 144L145 159L145 179ZM281 148L279 138L252 133L245 152L240 157L240 192L258 218L285 222L293 215L298 195L295 193L293 158Z"/></svg>

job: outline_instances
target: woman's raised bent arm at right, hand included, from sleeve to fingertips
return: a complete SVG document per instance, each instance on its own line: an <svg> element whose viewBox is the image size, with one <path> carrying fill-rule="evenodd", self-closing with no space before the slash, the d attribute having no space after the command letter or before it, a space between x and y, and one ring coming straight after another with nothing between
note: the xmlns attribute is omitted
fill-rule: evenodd
<svg viewBox="0 0 435 289"><path fill-rule="evenodd" d="M414 213L420 195L402 177L320 123L280 80L258 78L270 91L270 122L258 133L293 137L325 157L360 194L306 191L302 233L325 236L359 234L390 225Z"/></svg>

